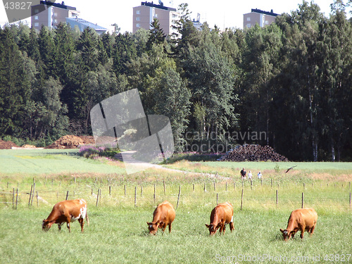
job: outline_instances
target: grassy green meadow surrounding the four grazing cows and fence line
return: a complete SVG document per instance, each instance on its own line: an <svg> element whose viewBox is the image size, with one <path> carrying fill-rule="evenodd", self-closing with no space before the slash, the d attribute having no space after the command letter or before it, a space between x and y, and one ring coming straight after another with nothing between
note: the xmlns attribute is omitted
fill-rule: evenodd
<svg viewBox="0 0 352 264"><path fill-rule="evenodd" d="M352 262L351 163L180 161L166 166L192 172L125 175L120 163L86 160L75 151L0 151L0 156L0 263ZM297 167L284 173L292 165ZM263 181L254 176L242 187L237 175L242 167L262 170ZM17 210L13 189L19 192ZM302 193L304 207L319 215L315 233L284 242L279 228L287 226L291 210L301 208ZM66 195L86 199L90 225L83 234L77 222L71 233L65 226L58 232L57 225L42 232L42 220ZM149 236L146 221L164 200L175 208L178 201L172 232ZM234 206L234 232L227 227L225 235L209 237L205 224L217 201Z"/></svg>

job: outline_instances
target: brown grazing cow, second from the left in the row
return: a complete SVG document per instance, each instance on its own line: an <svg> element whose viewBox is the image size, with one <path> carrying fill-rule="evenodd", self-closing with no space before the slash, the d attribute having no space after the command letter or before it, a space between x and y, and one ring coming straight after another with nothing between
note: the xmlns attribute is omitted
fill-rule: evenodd
<svg viewBox="0 0 352 264"><path fill-rule="evenodd" d="M167 226L169 226L169 232L171 232L171 225L173 220L175 220L175 215L175 209L171 203L168 201L159 203L153 213L153 222L146 222L149 228L149 234L156 234L158 227L164 232Z"/></svg>

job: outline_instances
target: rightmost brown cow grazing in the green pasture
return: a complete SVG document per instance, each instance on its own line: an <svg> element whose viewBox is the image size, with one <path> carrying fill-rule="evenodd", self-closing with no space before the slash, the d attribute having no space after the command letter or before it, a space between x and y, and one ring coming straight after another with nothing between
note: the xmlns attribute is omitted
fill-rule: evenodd
<svg viewBox="0 0 352 264"><path fill-rule="evenodd" d="M304 231L310 232L310 236L313 234L315 225L317 224L318 214L313 208L297 209L292 211L289 216L289 222L285 230L280 228L284 241L294 238L297 231L301 230L301 239L303 239Z"/></svg>

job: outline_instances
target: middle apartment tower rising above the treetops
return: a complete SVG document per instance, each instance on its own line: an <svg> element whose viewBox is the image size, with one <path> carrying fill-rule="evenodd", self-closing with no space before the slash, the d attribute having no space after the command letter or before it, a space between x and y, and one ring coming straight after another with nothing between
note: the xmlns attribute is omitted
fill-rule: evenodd
<svg viewBox="0 0 352 264"><path fill-rule="evenodd" d="M140 6L133 8L132 32L136 32L139 28L150 30L154 18L159 20L160 27L165 34L177 33L172 25L180 20L180 13L176 11L176 8L164 6L160 0L159 4L142 2Z"/></svg>

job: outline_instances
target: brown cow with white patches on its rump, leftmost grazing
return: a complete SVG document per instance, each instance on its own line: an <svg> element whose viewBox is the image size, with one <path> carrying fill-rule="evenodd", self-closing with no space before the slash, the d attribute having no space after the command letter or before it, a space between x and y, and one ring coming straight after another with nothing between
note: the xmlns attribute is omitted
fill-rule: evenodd
<svg viewBox="0 0 352 264"><path fill-rule="evenodd" d="M83 232L84 218L87 219L87 225L89 225L87 202L84 199L61 201L56 203L48 218L43 220L42 228L48 231L51 225L58 224L58 230L61 230L61 225L66 222L68 231L71 232L70 222L78 220L81 232Z"/></svg>

